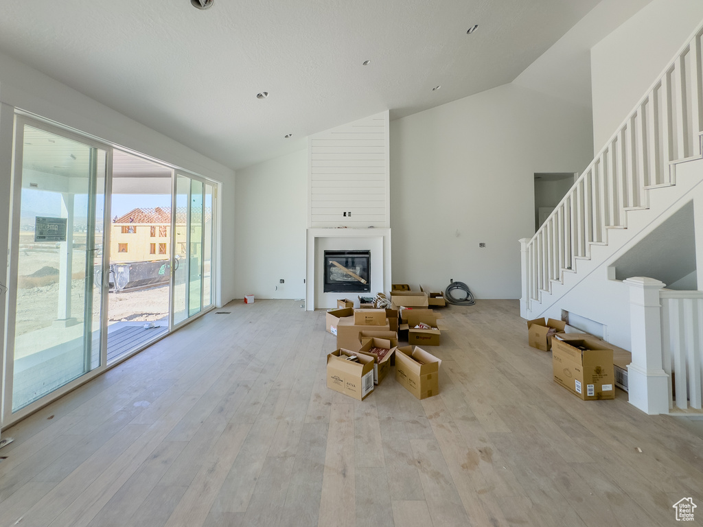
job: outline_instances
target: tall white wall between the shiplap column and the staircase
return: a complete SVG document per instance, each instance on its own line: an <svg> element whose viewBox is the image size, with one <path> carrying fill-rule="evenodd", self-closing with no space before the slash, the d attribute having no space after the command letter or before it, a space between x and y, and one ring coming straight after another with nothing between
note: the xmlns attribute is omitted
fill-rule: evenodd
<svg viewBox="0 0 703 527"><path fill-rule="evenodd" d="M583 171L591 134L582 105L514 84L392 121L393 282L520 298L534 173Z"/></svg>

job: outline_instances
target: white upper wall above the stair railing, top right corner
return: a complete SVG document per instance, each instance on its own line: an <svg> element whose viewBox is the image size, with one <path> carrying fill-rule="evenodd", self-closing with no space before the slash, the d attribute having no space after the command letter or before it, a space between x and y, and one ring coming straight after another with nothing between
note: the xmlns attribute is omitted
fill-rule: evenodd
<svg viewBox="0 0 703 527"><path fill-rule="evenodd" d="M700 0L654 0L593 46L594 154L617 131L702 20Z"/></svg>

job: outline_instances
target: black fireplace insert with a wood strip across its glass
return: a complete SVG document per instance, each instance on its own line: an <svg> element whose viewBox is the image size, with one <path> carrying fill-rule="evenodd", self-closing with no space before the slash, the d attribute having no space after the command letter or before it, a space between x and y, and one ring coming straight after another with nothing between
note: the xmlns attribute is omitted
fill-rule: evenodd
<svg viewBox="0 0 703 527"><path fill-rule="evenodd" d="M325 251L325 293L369 292L370 251Z"/></svg>

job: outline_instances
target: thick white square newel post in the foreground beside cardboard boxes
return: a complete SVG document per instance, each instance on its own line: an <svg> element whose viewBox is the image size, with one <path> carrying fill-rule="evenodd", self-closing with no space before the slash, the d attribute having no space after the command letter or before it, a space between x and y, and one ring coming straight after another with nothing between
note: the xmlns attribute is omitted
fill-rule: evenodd
<svg viewBox="0 0 703 527"><path fill-rule="evenodd" d="M635 276L624 280L630 288L632 363L627 367L632 405L650 415L669 413L669 375L662 367L663 282Z"/></svg>

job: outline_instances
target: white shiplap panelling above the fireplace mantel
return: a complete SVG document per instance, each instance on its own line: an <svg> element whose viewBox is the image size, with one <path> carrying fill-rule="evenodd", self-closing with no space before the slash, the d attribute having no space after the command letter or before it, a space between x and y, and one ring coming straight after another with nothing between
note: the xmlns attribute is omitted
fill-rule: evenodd
<svg viewBox="0 0 703 527"><path fill-rule="evenodd" d="M386 111L310 137L308 228L390 227L388 121Z"/></svg>

